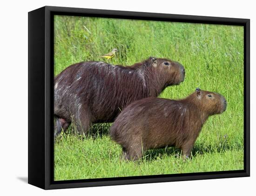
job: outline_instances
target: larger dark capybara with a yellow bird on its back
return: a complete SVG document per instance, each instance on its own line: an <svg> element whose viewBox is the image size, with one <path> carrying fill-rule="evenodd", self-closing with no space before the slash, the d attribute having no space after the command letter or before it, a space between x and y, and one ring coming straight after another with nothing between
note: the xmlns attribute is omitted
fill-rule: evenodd
<svg viewBox="0 0 256 196"><path fill-rule="evenodd" d="M132 66L97 61L71 65L54 78L54 136L71 121L80 134L92 123L113 122L129 103L156 97L184 77L182 64L155 57Z"/></svg>

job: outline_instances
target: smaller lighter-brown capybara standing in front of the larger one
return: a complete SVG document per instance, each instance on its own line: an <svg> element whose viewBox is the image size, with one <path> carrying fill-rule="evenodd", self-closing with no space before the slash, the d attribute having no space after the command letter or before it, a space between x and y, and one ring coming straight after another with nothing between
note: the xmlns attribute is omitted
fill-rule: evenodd
<svg viewBox="0 0 256 196"><path fill-rule="evenodd" d="M188 158L203 123L226 110L227 101L217 93L196 89L182 100L145 98L128 105L110 128L110 137L122 146L128 160L142 151L175 146Z"/></svg>

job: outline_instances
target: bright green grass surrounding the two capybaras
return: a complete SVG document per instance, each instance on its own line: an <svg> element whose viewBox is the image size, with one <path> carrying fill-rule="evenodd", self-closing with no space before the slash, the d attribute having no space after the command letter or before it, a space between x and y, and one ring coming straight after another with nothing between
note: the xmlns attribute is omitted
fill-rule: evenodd
<svg viewBox="0 0 256 196"><path fill-rule="evenodd" d="M110 124L95 124L86 137L74 136L70 126L54 145L55 180L243 170L243 27L55 16L54 36L55 75L73 63L102 61L117 48L109 63L154 56L184 65L185 81L160 97L180 99L199 87L228 101L226 112L204 124L187 161L169 147L126 162L108 136Z"/></svg>

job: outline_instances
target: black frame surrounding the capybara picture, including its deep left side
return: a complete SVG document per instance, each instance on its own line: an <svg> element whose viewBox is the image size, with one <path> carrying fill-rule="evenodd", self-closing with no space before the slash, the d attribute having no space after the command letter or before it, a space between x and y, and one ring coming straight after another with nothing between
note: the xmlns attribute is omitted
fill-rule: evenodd
<svg viewBox="0 0 256 196"><path fill-rule="evenodd" d="M54 181L53 16L91 16L160 20L244 27L244 170ZM249 177L249 50L250 20L162 13L44 6L28 13L28 183L42 189L62 189L135 183L156 183L228 177Z"/></svg>

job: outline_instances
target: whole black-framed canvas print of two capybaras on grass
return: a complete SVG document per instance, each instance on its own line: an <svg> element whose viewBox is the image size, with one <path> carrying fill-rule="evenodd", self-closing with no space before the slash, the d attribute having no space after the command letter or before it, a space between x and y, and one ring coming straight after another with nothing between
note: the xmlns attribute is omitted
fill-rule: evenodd
<svg viewBox="0 0 256 196"><path fill-rule="evenodd" d="M28 183L249 176L249 19L28 13Z"/></svg>

